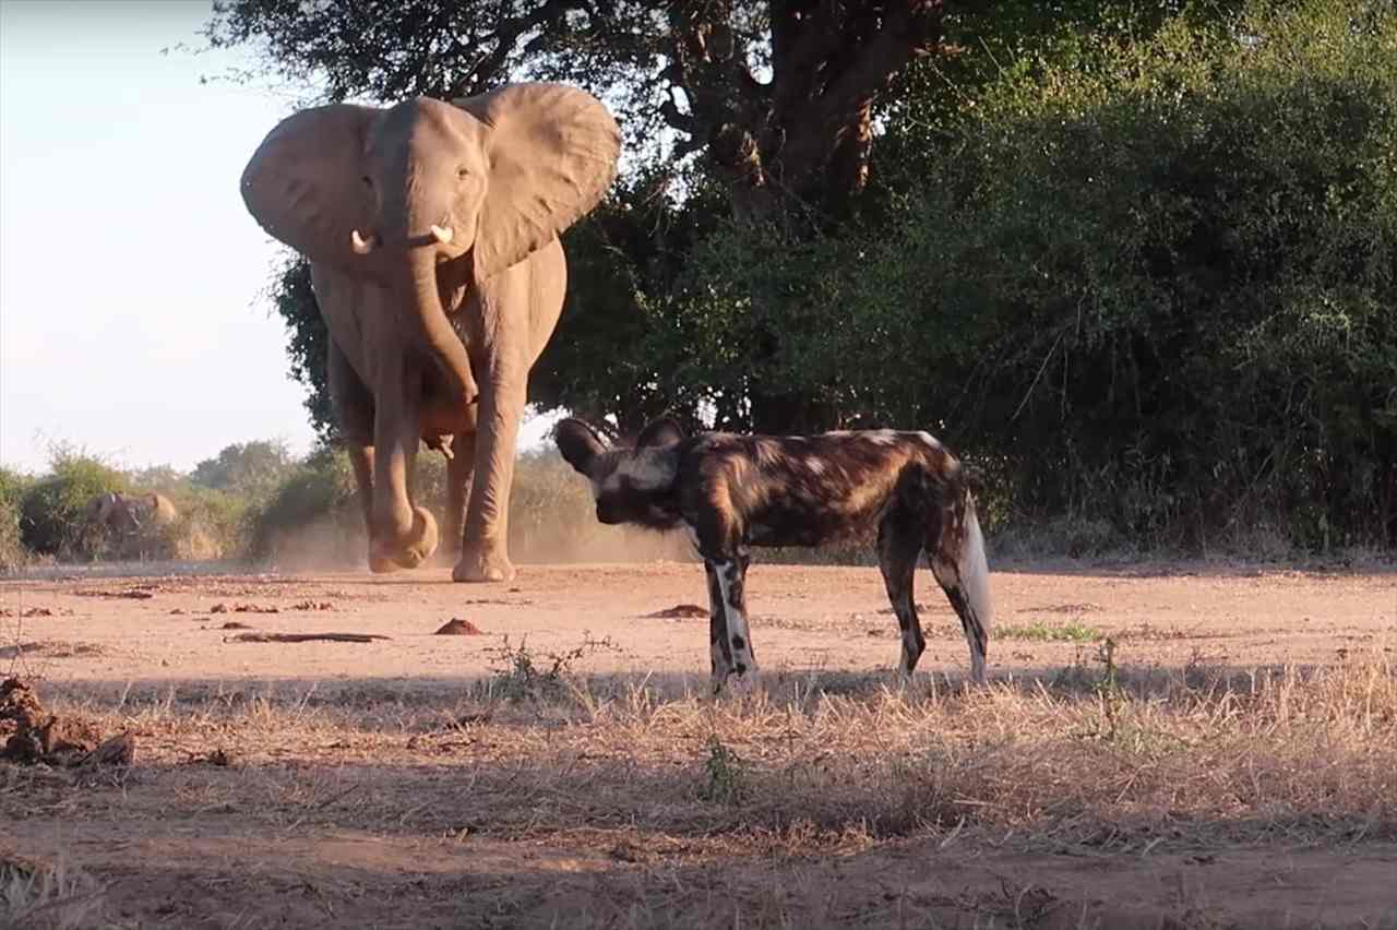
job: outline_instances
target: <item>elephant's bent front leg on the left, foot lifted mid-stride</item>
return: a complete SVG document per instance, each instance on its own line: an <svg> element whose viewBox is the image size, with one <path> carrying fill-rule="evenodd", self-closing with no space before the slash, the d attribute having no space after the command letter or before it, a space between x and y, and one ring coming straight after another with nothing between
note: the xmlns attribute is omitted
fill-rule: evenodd
<svg viewBox="0 0 1397 930"><path fill-rule="evenodd" d="M401 359L386 360L373 418L369 564L376 571L416 568L436 552L436 519L408 497L408 475L422 441L419 385L420 377Z"/></svg>

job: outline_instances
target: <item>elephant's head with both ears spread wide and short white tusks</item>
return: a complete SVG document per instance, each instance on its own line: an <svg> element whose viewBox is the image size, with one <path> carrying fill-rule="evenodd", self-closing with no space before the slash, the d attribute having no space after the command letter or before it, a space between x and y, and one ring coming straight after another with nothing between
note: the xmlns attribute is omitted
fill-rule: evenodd
<svg viewBox="0 0 1397 930"><path fill-rule="evenodd" d="M312 261L393 281L471 256L482 281L591 209L616 172L606 108L560 84L296 113L243 172L249 211Z"/></svg>

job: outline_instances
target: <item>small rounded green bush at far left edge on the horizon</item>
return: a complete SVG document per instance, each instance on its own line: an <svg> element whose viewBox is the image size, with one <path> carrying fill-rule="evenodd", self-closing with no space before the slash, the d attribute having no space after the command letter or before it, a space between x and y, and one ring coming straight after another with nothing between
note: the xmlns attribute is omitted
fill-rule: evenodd
<svg viewBox="0 0 1397 930"><path fill-rule="evenodd" d="M34 482L20 504L20 539L45 556L89 556L99 533L87 518L98 494L123 490L126 480L110 465L66 445L53 450L49 475Z"/></svg>

